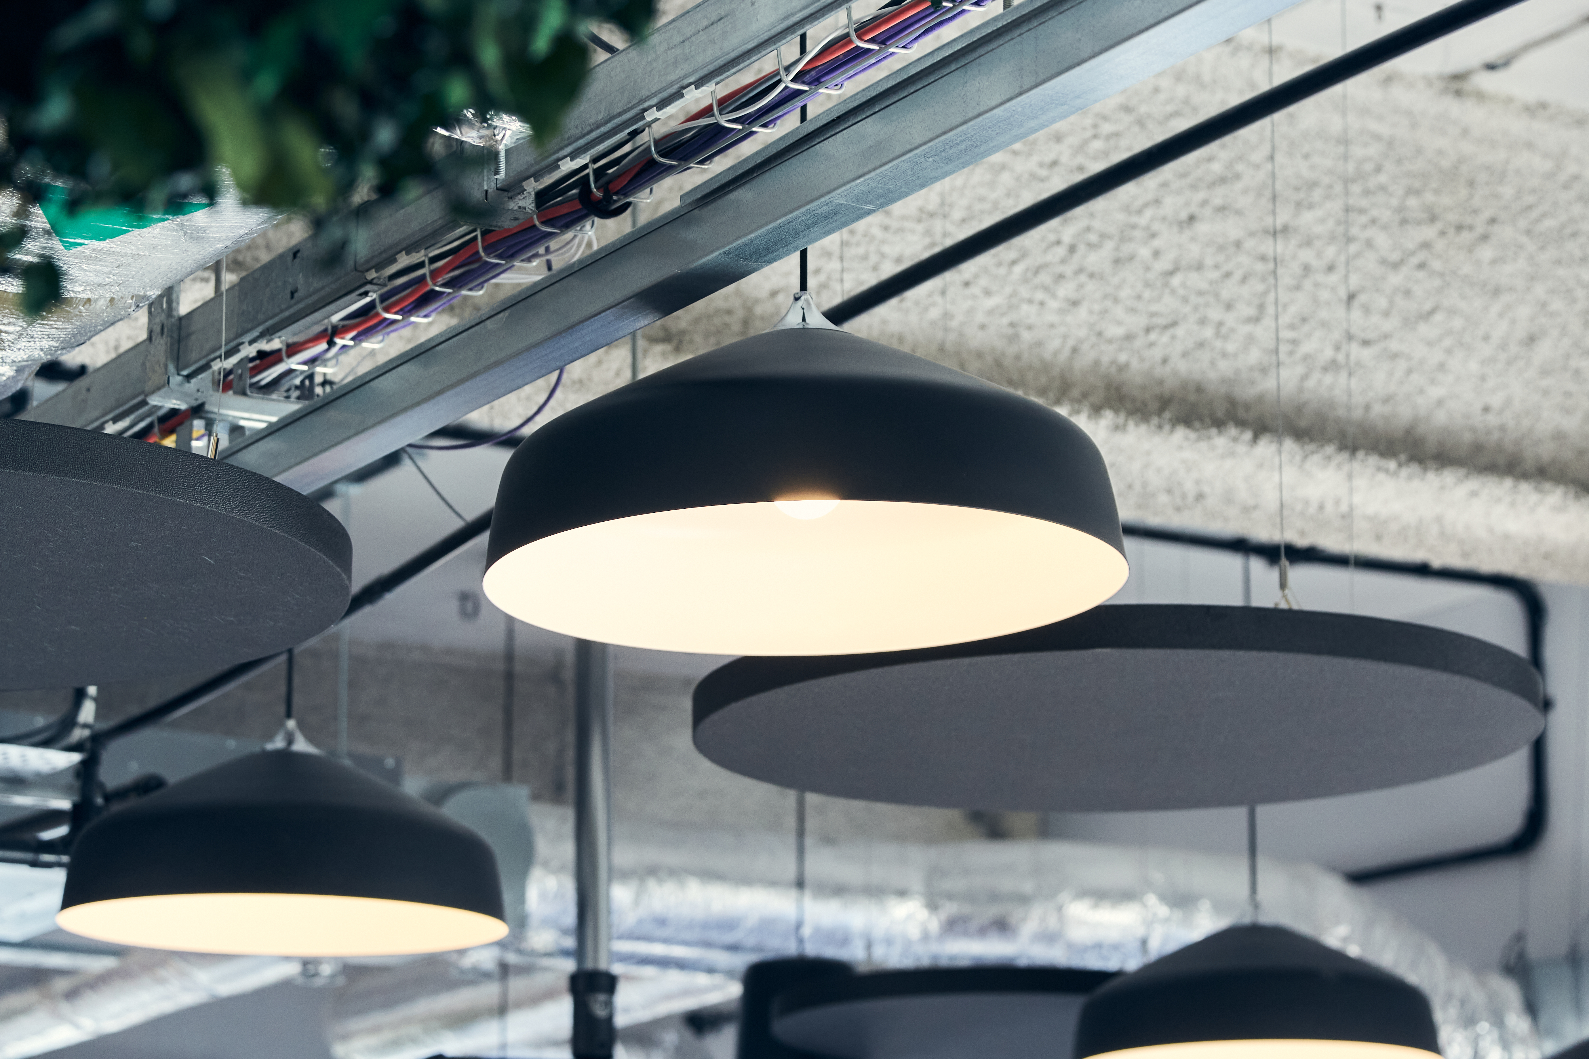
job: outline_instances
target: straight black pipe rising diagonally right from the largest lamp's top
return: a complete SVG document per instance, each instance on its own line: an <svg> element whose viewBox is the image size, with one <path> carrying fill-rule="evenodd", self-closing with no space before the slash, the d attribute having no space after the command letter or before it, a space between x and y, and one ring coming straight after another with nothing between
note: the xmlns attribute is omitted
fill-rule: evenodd
<svg viewBox="0 0 1589 1059"><path fill-rule="evenodd" d="M1093 198L1101 198L1117 187L1123 187L1131 181L1147 176L1154 170L1184 159L1193 151L1200 151L1211 143L1224 140L1233 132L1239 132L1247 125L1278 114L1293 103L1300 103L1311 95L1324 92L1325 89L1333 89L1335 86L1355 78L1359 73L1373 70L1390 59L1405 56L1416 48L1422 48L1430 41L1440 40L1448 33L1454 33L1465 25L1471 25L1483 17L1503 11L1521 2L1522 0L1462 0L1462 3L1454 3L1425 19L1413 22L1411 25L1386 33L1379 40L1363 44L1362 48L1354 48L1344 56L1320 64L1308 73L1298 75L1284 84L1276 84L1273 89L1260 92L1243 103L1236 103L1230 110L1220 111L1208 121L1201 121L1184 132L1177 132L1168 140L1160 140L1154 146L1138 151L1131 157L1115 162L1109 168L1100 170L1092 176L1049 195L1047 198L1039 198L1025 210L1012 213L1003 221L995 221L980 232L974 232L958 243L923 257L909 268L903 268L887 279L874 283L860 294L844 298L831 310L825 310L823 316L834 324L842 325L861 313L874 310L883 302L891 302L912 287L922 286L928 279L936 279L945 271L966 264L972 257L980 257L990 249L1003 246L1019 235L1025 235L1026 232L1031 232L1055 218L1061 218L1066 213L1087 205Z"/></svg>

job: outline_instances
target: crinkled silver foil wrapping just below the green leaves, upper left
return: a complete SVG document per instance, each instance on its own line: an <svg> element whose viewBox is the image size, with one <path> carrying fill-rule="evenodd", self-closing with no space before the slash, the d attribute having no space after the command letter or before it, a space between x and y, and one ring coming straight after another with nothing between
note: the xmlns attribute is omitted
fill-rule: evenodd
<svg viewBox="0 0 1589 1059"><path fill-rule="evenodd" d="M0 216L16 211L16 194L0 194ZM64 273L65 302L29 319L19 279L0 276L0 399L32 378L44 360L81 346L111 324L148 305L222 254L276 222L278 213L245 206L232 192L197 213L172 218L111 240L62 249L38 206L25 213L22 257L52 254Z"/></svg>

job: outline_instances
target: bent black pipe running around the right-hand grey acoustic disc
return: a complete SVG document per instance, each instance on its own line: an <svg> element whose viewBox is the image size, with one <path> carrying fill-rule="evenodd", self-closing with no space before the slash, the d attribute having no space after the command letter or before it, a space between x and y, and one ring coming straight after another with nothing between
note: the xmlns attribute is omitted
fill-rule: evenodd
<svg viewBox="0 0 1589 1059"><path fill-rule="evenodd" d="M1281 560L1281 545L1278 543L1255 541L1244 537L1214 537L1190 530L1170 530L1131 522L1127 522L1122 529L1127 537L1235 551L1243 556L1258 556L1260 559L1268 560L1270 565L1279 565ZM1427 562L1373 559L1370 556L1346 556L1338 551L1325 551L1324 548L1300 548L1297 545L1286 545L1284 554L1287 564L1317 562L1335 567L1357 567L1360 570L1382 570L1387 573L1403 573L1416 578L1489 584L1511 592L1522 607L1524 621L1527 624L1529 662L1533 664L1533 668L1541 673L1545 672L1545 622L1549 619L1549 613L1545 607L1545 595L1540 594L1540 587L1533 581L1514 578L1505 573L1483 573L1479 570L1435 567ZM1546 713L1551 710L1549 695L1545 699L1545 710ZM1549 821L1549 788L1546 784L1545 767L1545 732L1540 732L1540 737L1533 740L1533 745L1529 748L1529 807L1522 813L1522 822L1517 826L1517 830L1514 830L1510 837L1490 845L1473 846L1471 849L1438 853L1429 857L1417 857L1416 861L1397 861L1370 868L1359 868L1357 872L1347 872L1346 878L1354 883L1379 883L1406 875L1419 875L1424 872L1452 868L1463 864L1478 864L1481 861L1495 861L1500 857L1514 857L1529 853L1540 845L1541 838L1545 838L1545 826Z"/></svg>

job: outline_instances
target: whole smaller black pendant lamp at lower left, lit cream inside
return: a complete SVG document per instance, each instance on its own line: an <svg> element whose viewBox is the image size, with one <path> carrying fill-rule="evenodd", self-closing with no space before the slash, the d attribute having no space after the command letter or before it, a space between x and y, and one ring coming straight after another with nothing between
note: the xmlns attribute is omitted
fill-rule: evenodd
<svg viewBox="0 0 1589 1059"><path fill-rule="evenodd" d="M60 905L73 934L194 953L440 953L507 934L480 835L299 751L249 754L94 821Z"/></svg>

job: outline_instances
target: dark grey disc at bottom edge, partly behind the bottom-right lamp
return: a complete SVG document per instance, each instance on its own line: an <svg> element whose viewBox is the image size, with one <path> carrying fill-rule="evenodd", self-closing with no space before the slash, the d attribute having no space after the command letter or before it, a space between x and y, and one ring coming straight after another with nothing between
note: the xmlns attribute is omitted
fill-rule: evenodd
<svg viewBox="0 0 1589 1059"><path fill-rule="evenodd" d="M833 1059L1071 1059L1082 1002L1115 975L1061 967L931 967L785 989L782 1043Z"/></svg>

